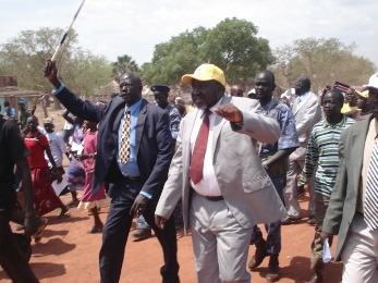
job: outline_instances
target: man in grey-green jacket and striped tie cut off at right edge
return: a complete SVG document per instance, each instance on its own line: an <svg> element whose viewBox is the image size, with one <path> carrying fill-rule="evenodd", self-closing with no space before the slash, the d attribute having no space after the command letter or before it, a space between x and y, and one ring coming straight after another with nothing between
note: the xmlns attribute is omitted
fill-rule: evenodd
<svg viewBox="0 0 378 283"><path fill-rule="evenodd" d="M341 134L338 175L320 234L322 243L339 234L334 259L344 263L344 283L378 282L378 74L362 90L368 91L371 116Z"/></svg>

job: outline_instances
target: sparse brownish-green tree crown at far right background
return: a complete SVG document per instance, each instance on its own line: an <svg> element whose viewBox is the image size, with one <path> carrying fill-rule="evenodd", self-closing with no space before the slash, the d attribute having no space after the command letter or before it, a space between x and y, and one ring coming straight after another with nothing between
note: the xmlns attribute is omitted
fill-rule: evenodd
<svg viewBox="0 0 378 283"><path fill-rule="evenodd" d="M334 82L358 86L367 82L376 66L370 60L355 56L356 47L337 38L297 39L273 51L276 63L270 69L277 83L286 88L300 76L310 78L315 93Z"/></svg>

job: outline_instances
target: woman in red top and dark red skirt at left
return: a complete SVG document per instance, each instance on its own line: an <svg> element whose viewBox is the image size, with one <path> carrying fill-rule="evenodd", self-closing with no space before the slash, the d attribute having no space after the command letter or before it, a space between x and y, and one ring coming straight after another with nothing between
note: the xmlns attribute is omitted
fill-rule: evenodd
<svg viewBox="0 0 378 283"><path fill-rule="evenodd" d="M38 119L36 116L28 116L26 120L26 130L24 132L24 143L31 152L27 157L27 161L32 171L32 182L34 189L34 202L36 205L36 211L38 216L45 216L46 213L61 208L61 212L58 218L64 218L68 214L68 208L62 204L60 198L53 192L51 186L50 169L45 159L44 152L46 151L49 160L52 164L52 172L57 172L57 164L51 155L49 142L47 137L41 134L38 128ZM58 177L61 180L61 176Z"/></svg>

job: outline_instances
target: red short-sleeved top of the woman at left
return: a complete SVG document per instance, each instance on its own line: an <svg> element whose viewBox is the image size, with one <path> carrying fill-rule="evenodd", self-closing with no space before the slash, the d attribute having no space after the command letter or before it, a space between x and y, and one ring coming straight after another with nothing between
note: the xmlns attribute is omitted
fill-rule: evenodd
<svg viewBox="0 0 378 283"><path fill-rule="evenodd" d="M45 159L44 147L49 145L47 137L41 134L38 130L36 132L27 133L25 136L25 146L27 147L31 155L27 157L31 168L45 168L48 163Z"/></svg>

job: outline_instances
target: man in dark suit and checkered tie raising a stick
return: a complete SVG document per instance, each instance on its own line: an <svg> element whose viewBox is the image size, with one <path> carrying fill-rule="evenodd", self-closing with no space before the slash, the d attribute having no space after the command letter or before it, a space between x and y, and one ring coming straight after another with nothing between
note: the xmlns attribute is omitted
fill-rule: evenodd
<svg viewBox="0 0 378 283"><path fill-rule="evenodd" d="M173 218L162 231L154 222L173 155L168 113L142 98L142 82L134 73L121 76L120 96L106 106L84 102L59 82L57 73L54 62L48 61L45 76L56 87L56 97L73 114L99 123L92 193L103 181L113 184L108 192L112 200L99 255L101 282L120 280L134 214L145 217L162 246L166 263L160 270L162 282L179 282Z"/></svg>

